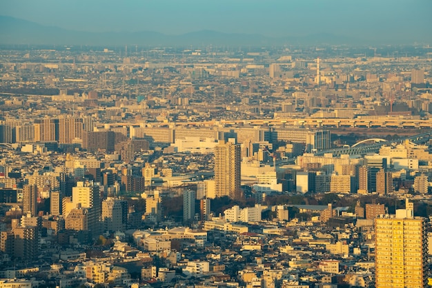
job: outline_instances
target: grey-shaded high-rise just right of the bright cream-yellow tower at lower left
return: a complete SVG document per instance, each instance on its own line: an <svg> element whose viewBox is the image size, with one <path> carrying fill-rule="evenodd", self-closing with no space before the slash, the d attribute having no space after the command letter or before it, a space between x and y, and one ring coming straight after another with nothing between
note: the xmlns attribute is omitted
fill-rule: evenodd
<svg viewBox="0 0 432 288"><path fill-rule="evenodd" d="M108 197L102 202L102 221L107 231L124 231L128 224L128 202Z"/></svg>

